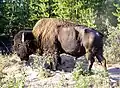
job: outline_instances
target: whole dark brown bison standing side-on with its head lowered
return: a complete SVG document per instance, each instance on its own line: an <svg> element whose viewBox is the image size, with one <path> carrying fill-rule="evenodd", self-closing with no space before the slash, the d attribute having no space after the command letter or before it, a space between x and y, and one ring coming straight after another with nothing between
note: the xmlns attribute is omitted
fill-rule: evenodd
<svg viewBox="0 0 120 88"><path fill-rule="evenodd" d="M36 49L39 49L41 55L51 55L54 58L53 70L56 69L57 64L60 64L61 53L75 57L87 54L90 61L89 70L96 57L106 69L106 60L103 57L103 35L92 28L69 21L41 19L35 24L32 32L23 31L16 34L14 48L21 60L28 60L28 56Z"/></svg>

